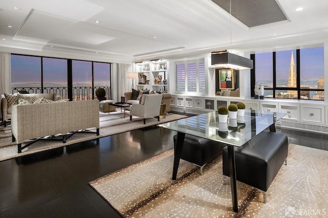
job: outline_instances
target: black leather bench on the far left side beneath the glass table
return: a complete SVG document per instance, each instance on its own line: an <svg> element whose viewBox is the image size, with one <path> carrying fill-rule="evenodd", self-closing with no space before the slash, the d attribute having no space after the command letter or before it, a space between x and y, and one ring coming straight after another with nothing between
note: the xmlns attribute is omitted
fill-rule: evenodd
<svg viewBox="0 0 328 218"><path fill-rule="evenodd" d="M176 148L176 138L177 135L173 137L174 149ZM199 166L200 174L202 174L203 166L221 155L225 146L226 144L223 143L186 134L181 159Z"/></svg>

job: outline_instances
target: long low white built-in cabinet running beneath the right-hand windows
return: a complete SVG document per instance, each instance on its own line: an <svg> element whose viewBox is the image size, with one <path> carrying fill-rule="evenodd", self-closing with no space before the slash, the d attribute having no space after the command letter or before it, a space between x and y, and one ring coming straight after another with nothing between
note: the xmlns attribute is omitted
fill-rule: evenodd
<svg viewBox="0 0 328 218"><path fill-rule="evenodd" d="M171 110L201 113L217 110L221 105L243 102L247 109L263 112L279 112L285 115L277 122L285 128L328 134L328 105L323 101L296 99L240 99L225 96L184 96L173 95ZM176 100L175 100L176 99Z"/></svg>

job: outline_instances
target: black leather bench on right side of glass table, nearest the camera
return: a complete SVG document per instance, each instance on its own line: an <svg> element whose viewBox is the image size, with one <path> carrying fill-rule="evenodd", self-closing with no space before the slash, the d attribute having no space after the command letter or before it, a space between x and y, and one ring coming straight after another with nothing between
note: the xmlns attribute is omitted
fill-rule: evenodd
<svg viewBox="0 0 328 218"><path fill-rule="evenodd" d="M267 190L288 156L288 138L275 132L262 132L241 147L235 147L236 179L263 191ZM223 175L229 177L228 147L223 148ZM224 181L225 182L225 181Z"/></svg>

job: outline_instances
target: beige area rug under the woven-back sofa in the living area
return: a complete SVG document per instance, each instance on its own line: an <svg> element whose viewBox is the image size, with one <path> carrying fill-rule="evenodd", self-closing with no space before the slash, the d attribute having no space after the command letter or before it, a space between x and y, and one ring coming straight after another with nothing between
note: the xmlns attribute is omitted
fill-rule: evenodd
<svg viewBox="0 0 328 218"><path fill-rule="evenodd" d="M44 151L56 147L63 147L78 142L97 139L105 136L111 136L118 133L124 133L130 130L157 125L160 123L166 123L186 117L183 115L168 114L165 116L165 118L159 119L159 122L157 121L157 118L147 118L146 124L144 124L144 120L142 118L132 117L132 121L130 121L129 114L127 114L126 118L124 118L124 114L120 112L111 112L110 114L99 113L99 116L99 136L96 136L96 134L79 133L74 134L66 141L66 143L62 143L60 141L38 141L24 149L23 152L20 154L17 154L17 145L15 142L12 142L11 130L10 126L8 126L5 130L0 130L0 136L2 136L0 137L0 161L29 155L35 152ZM95 128L90 128L89 130L95 131Z"/></svg>

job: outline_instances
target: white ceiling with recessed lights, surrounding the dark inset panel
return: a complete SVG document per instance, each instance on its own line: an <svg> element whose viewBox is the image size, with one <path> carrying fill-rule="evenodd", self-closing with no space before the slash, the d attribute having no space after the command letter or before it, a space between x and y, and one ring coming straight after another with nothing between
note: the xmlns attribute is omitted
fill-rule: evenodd
<svg viewBox="0 0 328 218"><path fill-rule="evenodd" d="M328 40L327 0L276 2L288 21L248 28L211 0L0 0L0 51L80 53L132 62ZM303 10L295 11L298 7Z"/></svg>

